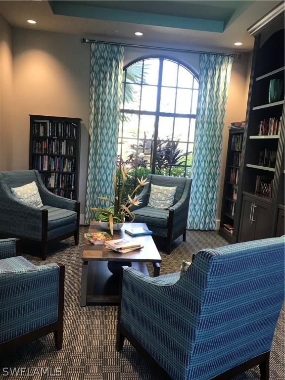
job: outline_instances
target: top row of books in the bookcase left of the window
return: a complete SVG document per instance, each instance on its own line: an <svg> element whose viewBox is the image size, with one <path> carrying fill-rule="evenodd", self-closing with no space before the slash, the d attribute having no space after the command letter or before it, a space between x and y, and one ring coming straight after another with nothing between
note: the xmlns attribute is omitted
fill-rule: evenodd
<svg viewBox="0 0 285 380"><path fill-rule="evenodd" d="M52 138L76 139L77 124L66 122L51 122L49 120L34 120L33 135Z"/></svg>

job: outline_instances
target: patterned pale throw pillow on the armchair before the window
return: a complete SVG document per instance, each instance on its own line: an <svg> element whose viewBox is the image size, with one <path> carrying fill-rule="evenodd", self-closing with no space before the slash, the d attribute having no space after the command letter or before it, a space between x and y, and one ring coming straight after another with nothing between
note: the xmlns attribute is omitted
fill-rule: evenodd
<svg viewBox="0 0 285 380"><path fill-rule="evenodd" d="M173 205L176 186L158 186L151 184L148 206L167 209Z"/></svg>

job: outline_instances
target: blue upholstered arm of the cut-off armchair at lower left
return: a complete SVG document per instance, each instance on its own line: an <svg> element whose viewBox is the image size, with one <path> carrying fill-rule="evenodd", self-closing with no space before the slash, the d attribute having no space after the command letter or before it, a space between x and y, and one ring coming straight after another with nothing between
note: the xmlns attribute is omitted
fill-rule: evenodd
<svg viewBox="0 0 285 380"><path fill-rule="evenodd" d="M9 263L0 272L0 343L56 322L60 317L60 266L29 267L27 263L21 265L19 258L6 260Z"/></svg>

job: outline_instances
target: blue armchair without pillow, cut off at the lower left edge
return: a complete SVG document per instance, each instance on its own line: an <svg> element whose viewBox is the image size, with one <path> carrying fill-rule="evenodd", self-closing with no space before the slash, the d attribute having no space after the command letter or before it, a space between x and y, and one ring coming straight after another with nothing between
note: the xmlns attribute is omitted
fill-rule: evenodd
<svg viewBox="0 0 285 380"><path fill-rule="evenodd" d="M64 266L35 266L16 256L16 239L0 240L0 352L54 333L62 348Z"/></svg>

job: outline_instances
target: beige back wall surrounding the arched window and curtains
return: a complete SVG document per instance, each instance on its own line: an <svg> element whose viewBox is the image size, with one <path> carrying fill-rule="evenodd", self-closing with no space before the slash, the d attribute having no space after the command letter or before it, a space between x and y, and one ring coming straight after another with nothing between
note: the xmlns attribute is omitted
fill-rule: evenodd
<svg viewBox="0 0 285 380"><path fill-rule="evenodd" d="M63 33L44 32L28 29L14 29L13 44L13 126L9 130L10 148L5 156L9 167L6 169L27 169L29 165L29 114L70 116L82 118L82 142L80 160L79 200L84 213L89 123L89 76L90 47L81 44L80 37ZM126 47L125 64L144 55L168 55L178 58L198 71L199 55L171 53L171 51L149 50ZM245 95L247 83L248 54L235 59L232 70L229 101L227 106L220 182L225 169L225 147L227 127L231 121L245 118ZM4 168L5 169L5 165ZM220 214L219 190L217 218Z"/></svg>

